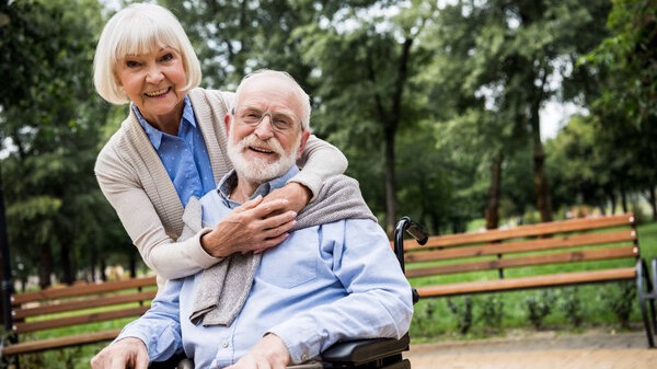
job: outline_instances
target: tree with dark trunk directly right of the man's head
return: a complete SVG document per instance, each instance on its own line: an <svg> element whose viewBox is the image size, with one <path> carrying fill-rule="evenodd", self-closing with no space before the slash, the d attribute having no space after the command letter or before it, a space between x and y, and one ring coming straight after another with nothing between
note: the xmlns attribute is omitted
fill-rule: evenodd
<svg viewBox="0 0 657 369"><path fill-rule="evenodd" d="M380 204L385 205L389 232L397 207L396 136L417 128L423 115L412 88L426 60L417 41L436 11L435 4L423 1L376 1L367 7L346 2L332 18L295 33L301 39L303 60L314 67L312 80L320 102L314 126L330 134L328 139L350 159L357 151L356 160L379 169L370 171L374 177L367 181L384 184L378 193L383 194ZM361 173L350 173L362 178Z"/></svg>

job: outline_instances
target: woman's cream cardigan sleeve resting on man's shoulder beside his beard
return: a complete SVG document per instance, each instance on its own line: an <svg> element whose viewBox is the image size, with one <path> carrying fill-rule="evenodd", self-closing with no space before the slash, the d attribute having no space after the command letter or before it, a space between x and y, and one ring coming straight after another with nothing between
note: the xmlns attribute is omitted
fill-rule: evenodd
<svg viewBox="0 0 657 369"><path fill-rule="evenodd" d="M297 182L318 196L324 180L332 175L343 174L347 170L347 158L333 145L311 135L297 164L302 170L288 182Z"/></svg>

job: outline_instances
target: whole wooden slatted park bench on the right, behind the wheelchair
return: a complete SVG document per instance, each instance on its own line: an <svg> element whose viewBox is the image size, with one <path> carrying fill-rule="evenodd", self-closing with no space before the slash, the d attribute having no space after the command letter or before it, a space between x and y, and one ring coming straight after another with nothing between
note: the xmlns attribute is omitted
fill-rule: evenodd
<svg viewBox="0 0 657 369"><path fill-rule="evenodd" d="M629 214L405 241L405 273L425 277L412 279L419 299L634 280L655 347L657 263L650 279L634 222Z"/></svg>

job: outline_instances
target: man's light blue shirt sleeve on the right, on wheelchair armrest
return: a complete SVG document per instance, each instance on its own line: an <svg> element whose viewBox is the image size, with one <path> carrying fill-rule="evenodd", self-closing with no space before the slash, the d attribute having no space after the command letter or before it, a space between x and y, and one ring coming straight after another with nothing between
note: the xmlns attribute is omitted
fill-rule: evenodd
<svg viewBox="0 0 657 369"><path fill-rule="evenodd" d="M323 254L332 255L333 273L346 296L300 312L276 324L269 332L288 347L293 362L316 357L338 341L403 336L411 325L411 285L402 273L390 243L379 224L351 219L333 232L343 238L322 241Z"/></svg>

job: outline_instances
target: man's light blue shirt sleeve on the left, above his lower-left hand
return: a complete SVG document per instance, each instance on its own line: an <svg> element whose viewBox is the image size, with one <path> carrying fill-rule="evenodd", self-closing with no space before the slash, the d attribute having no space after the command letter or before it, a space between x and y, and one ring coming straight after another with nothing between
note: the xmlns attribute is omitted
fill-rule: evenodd
<svg viewBox="0 0 657 369"><path fill-rule="evenodd" d="M115 342L127 337L141 339L151 361L163 361L182 353L178 300L182 285L182 279L169 280L153 299L151 308L139 319L128 323Z"/></svg>

